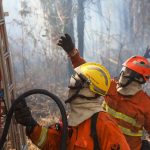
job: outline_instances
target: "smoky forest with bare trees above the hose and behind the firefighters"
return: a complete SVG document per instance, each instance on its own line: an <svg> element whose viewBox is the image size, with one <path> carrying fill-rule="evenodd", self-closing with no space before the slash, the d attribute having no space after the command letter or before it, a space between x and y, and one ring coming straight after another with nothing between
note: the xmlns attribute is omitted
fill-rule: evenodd
<svg viewBox="0 0 150 150"><path fill-rule="evenodd" d="M17 92L44 88L65 98L71 67L56 45L63 33L112 77L150 45L150 0L5 0L3 7Z"/></svg>

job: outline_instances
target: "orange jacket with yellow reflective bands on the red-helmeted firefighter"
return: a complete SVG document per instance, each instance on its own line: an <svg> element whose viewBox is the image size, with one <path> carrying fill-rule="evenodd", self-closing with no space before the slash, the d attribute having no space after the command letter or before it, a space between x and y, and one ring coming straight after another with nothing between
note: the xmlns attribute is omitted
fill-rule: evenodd
<svg viewBox="0 0 150 150"><path fill-rule="evenodd" d="M79 53L70 58L74 67L85 63ZM143 128L150 133L150 97L142 90L134 96L123 96L116 86L117 81L112 79L103 107L117 121L131 150L140 150Z"/></svg>

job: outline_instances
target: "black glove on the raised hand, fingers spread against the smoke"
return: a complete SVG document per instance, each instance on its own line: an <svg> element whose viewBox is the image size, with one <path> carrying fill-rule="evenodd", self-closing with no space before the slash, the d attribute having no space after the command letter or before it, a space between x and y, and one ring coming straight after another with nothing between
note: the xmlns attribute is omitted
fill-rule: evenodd
<svg viewBox="0 0 150 150"><path fill-rule="evenodd" d="M57 45L61 46L67 54L69 54L74 48L75 45L72 42L70 35L65 34L65 36L61 36Z"/></svg>

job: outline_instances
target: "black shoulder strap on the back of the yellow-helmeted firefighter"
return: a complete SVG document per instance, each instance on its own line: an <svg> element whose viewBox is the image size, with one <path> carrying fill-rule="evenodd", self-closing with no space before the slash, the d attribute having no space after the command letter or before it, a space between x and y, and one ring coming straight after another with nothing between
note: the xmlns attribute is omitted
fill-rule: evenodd
<svg viewBox="0 0 150 150"><path fill-rule="evenodd" d="M91 118L91 137L94 142L94 150L100 150L100 145L98 141L97 131L96 131L96 123L99 112L95 113Z"/></svg>

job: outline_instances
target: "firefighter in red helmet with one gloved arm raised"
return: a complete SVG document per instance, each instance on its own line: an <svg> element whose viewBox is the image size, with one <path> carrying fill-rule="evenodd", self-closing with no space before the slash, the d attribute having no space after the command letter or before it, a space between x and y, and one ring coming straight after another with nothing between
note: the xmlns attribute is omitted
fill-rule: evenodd
<svg viewBox="0 0 150 150"><path fill-rule="evenodd" d="M80 57L68 34L60 37L58 45L67 52L74 67L86 62ZM150 133L150 97L142 90L142 85L149 77L150 62L146 58L133 56L127 59L123 63L119 80L111 79L103 102L104 109L118 123L131 150L143 147L141 138L144 130Z"/></svg>

